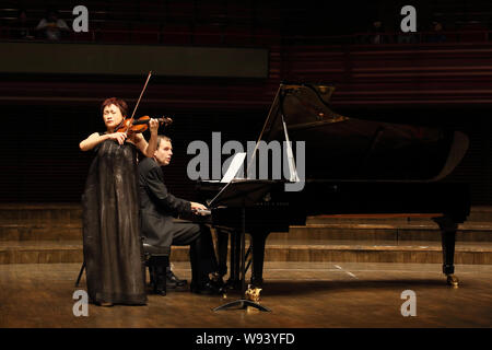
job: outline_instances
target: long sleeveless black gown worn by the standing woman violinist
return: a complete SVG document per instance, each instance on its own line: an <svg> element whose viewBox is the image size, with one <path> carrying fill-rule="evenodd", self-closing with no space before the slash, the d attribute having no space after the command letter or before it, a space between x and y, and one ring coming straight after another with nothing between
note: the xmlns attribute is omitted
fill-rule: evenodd
<svg viewBox="0 0 492 350"><path fill-rule="evenodd" d="M94 303L147 303L137 148L102 142L82 196L87 293Z"/></svg>

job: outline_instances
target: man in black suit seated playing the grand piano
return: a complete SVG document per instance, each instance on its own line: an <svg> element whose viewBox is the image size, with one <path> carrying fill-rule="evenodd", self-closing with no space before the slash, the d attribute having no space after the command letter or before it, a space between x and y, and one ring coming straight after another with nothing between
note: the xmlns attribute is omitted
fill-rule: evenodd
<svg viewBox="0 0 492 350"><path fill-rule="evenodd" d="M210 229L204 224L174 220L178 215L185 218L200 215L200 211L207 210L207 207L176 198L168 192L162 166L169 165L172 155L171 139L159 136L154 155L139 163L140 210L144 242L159 247L189 245L191 292L219 294L218 283L209 278L210 273L216 276L218 265ZM178 280L171 270L166 271L166 276L162 273L159 278L161 280L156 281L157 285L164 282L164 278L171 281Z"/></svg>

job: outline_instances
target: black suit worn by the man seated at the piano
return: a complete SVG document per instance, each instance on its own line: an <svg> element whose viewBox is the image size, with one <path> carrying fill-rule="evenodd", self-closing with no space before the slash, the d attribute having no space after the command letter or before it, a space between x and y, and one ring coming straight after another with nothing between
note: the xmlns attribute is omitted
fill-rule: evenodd
<svg viewBox="0 0 492 350"><path fill-rule="evenodd" d="M192 283L208 281L216 270L210 230L189 221L176 221L190 215L191 203L167 191L162 167L151 158L139 163L140 215L144 242L160 247L189 245Z"/></svg>

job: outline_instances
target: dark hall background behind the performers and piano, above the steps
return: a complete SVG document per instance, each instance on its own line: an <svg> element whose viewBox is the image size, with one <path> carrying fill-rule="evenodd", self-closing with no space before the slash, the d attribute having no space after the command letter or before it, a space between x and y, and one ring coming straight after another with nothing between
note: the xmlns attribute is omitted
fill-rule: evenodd
<svg viewBox="0 0 492 350"><path fill-rule="evenodd" d="M90 34L70 33L63 43L269 49L266 79L151 79L137 116L174 118L166 135L175 155L165 172L177 196L195 195L186 175L189 142L209 142L212 131L222 142L256 140L278 85L303 81L336 85L332 109L348 117L465 131L470 150L446 180L470 183L473 205L492 203L490 1L1 1L0 38L19 40L14 10L27 9L34 27L54 7L71 26L75 4L89 8ZM418 11L412 44L398 43L403 4ZM365 42L375 20L387 37L380 45ZM446 40L433 42L434 21ZM27 42L43 42L34 36ZM126 98L132 110L147 72L0 77L0 200L79 201L93 158L79 142L104 131L104 98Z"/></svg>

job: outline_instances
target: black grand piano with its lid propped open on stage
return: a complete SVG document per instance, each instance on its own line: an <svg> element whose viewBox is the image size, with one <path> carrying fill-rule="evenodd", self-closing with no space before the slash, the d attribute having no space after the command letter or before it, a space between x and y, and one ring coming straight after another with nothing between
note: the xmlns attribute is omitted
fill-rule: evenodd
<svg viewBox="0 0 492 350"><path fill-rule="evenodd" d="M241 232L250 235L250 283L261 287L270 232L304 225L309 215L420 213L441 229L443 272L447 283L457 287L455 235L469 214L470 195L467 184L445 178L466 154L468 137L446 128L341 116L329 107L333 91L320 84L280 85L258 141L291 141L286 164L294 174L289 178L197 183L201 199L215 199L209 201L209 223L221 232L219 237L231 233L230 282L242 279L244 285L246 276L244 267L239 271ZM298 141L305 142L305 152L294 156ZM251 164L258 165L258 152L247 159L246 175L255 168ZM285 190L288 184L302 189ZM225 186L231 196L216 200ZM227 248L223 242L222 256Z"/></svg>

